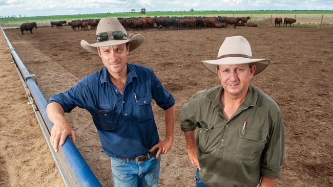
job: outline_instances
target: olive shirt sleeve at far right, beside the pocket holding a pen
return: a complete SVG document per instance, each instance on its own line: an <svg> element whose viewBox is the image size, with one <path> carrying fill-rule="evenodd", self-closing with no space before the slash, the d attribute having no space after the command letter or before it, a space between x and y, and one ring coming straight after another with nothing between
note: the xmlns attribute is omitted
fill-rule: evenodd
<svg viewBox="0 0 333 187"><path fill-rule="evenodd" d="M269 142L262 156L260 172L270 178L279 178L284 155L284 127L279 110L272 115L272 130L269 136Z"/></svg>

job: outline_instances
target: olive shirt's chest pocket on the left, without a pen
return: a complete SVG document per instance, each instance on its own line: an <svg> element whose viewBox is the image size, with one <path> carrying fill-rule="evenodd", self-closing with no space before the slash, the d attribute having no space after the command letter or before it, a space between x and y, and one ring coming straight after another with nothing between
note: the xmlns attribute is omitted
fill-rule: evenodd
<svg viewBox="0 0 333 187"><path fill-rule="evenodd" d="M203 153L211 153L213 151L212 149L212 144L210 142L210 136L213 129L213 125L208 125L203 121L198 121L196 123L198 127L198 132L197 132L197 141L199 144L199 149Z"/></svg>

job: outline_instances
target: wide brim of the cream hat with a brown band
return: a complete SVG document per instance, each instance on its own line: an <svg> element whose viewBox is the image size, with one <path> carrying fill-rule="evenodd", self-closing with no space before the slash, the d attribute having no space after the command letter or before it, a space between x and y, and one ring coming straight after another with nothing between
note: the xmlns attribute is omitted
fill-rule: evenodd
<svg viewBox="0 0 333 187"><path fill-rule="evenodd" d="M201 62L207 69L209 69L214 74L216 74L217 65L253 63L254 65L256 65L256 71L254 75L257 75L268 66L270 60L266 58L255 59L255 58L243 58L243 57L227 57L217 60L202 60Z"/></svg>

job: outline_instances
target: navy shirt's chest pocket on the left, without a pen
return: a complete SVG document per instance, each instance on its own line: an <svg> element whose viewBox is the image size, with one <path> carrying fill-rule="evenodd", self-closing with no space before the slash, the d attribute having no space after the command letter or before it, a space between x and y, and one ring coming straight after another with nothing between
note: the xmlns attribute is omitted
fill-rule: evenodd
<svg viewBox="0 0 333 187"><path fill-rule="evenodd" d="M103 105L103 106L98 106L95 108L98 118L99 118L99 126L103 130L115 130L117 129L120 125L117 122L117 118L115 115L116 111L116 105L111 104L111 105Z"/></svg>

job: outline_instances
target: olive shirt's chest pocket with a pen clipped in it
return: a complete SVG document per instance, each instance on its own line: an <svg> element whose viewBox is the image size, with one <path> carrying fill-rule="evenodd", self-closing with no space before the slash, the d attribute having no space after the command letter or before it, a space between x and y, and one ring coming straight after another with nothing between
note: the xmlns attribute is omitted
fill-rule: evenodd
<svg viewBox="0 0 333 187"><path fill-rule="evenodd" d="M246 127L245 133L239 128L234 156L237 160L260 159L261 153L267 142L267 132Z"/></svg>

